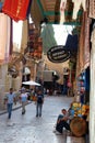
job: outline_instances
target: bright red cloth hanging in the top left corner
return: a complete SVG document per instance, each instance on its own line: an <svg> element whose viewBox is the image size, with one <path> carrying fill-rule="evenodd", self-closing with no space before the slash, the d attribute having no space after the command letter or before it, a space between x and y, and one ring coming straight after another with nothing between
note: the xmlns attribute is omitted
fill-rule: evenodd
<svg viewBox="0 0 95 143"><path fill-rule="evenodd" d="M25 20L29 0L4 0L2 12L14 21Z"/></svg>

